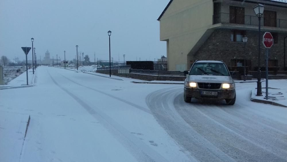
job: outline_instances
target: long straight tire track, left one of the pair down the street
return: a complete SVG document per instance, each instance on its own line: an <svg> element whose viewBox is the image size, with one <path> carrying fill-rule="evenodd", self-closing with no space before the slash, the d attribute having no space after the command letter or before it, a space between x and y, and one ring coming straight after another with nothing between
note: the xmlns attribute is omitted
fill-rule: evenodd
<svg viewBox="0 0 287 162"><path fill-rule="evenodd" d="M102 125L121 143L138 161L168 161L162 155L158 154L155 150L147 146L144 142L139 140L136 136L132 135L127 129L114 121L96 106L89 106L80 98L69 92L64 87L61 87L55 79L50 75L52 81L61 88L64 92L69 94L75 101L77 101L88 113L96 118Z"/></svg>

